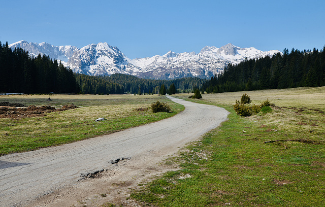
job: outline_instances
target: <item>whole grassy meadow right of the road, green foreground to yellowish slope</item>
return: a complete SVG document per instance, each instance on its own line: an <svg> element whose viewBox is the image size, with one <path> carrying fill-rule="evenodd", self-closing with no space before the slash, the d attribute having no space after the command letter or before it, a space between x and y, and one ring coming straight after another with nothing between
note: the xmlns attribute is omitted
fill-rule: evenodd
<svg viewBox="0 0 325 207"><path fill-rule="evenodd" d="M269 99L271 113L239 117L236 99ZM163 164L175 171L131 197L149 206L324 206L325 87L203 94L186 100L230 111L229 120ZM177 168L179 167L179 168Z"/></svg>

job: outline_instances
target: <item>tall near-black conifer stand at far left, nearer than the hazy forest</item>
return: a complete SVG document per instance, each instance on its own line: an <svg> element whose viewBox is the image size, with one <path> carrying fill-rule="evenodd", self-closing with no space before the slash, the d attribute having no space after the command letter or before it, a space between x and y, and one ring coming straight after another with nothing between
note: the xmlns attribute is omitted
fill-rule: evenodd
<svg viewBox="0 0 325 207"><path fill-rule="evenodd" d="M27 51L0 42L0 92L78 93L72 70L49 56L32 57Z"/></svg>

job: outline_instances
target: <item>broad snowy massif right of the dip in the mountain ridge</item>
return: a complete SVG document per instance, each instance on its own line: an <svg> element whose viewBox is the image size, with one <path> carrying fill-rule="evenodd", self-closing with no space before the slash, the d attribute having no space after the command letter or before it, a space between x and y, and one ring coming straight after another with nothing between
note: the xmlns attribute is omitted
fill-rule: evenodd
<svg viewBox="0 0 325 207"><path fill-rule="evenodd" d="M221 48L204 47L200 53L174 53L169 51L163 56L155 55L147 58L129 60L132 64L142 68L145 78L181 78L200 77L210 78L222 72L229 63L239 62L251 58L272 56L278 50L263 52L255 48L240 48L227 44Z"/></svg>

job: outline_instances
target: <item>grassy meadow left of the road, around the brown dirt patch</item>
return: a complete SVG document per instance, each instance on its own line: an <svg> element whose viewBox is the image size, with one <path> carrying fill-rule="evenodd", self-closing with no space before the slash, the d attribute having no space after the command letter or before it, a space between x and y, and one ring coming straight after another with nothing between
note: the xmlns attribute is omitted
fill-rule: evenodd
<svg viewBox="0 0 325 207"><path fill-rule="evenodd" d="M48 98L51 101L48 101ZM172 113L152 113L151 103L168 102ZM184 107L158 95L1 95L0 102L77 109L44 117L0 119L0 156L71 143L174 116ZM98 118L106 120L95 122Z"/></svg>

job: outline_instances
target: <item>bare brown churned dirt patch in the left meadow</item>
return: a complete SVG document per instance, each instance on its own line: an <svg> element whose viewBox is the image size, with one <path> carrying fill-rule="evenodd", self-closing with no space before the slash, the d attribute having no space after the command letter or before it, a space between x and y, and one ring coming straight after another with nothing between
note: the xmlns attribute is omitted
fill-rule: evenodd
<svg viewBox="0 0 325 207"><path fill-rule="evenodd" d="M58 109L51 106L36 107L34 105L30 105L28 107L12 107L9 105L10 103L8 103L8 106L0 106L0 119L22 119L28 117L41 117L46 116L46 114L50 112L65 111L78 108L73 103L71 105L64 105Z"/></svg>

